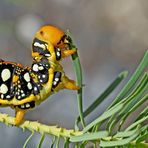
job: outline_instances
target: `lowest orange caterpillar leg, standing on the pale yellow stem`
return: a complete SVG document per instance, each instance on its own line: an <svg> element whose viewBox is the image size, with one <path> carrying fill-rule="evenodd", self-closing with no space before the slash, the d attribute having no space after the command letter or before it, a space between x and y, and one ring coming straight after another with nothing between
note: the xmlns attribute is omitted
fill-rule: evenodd
<svg viewBox="0 0 148 148"><path fill-rule="evenodd" d="M15 121L14 121L14 124L16 126L20 125L23 122L25 113L26 113L25 110L19 110L19 109L16 110Z"/></svg>

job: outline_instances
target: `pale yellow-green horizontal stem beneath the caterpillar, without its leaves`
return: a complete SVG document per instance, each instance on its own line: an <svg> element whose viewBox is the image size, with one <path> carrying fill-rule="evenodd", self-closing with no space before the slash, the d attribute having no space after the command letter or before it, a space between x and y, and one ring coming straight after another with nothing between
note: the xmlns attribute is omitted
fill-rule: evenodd
<svg viewBox="0 0 148 148"><path fill-rule="evenodd" d="M0 113L0 122L5 123L6 125L15 125L14 124L14 117L10 117L7 114ZM48 126L45 124L41 124L39 122L33 122L33 121L24 121L23 124L19 126L23 130L28 129L30 131L36 131L41 134L47 133L54 136L61 136L64 138L70 138L70 136L79 136L82 134L81 131L75 131L73 129L67 130L65 128L60 128L57 126Z"/></svg>

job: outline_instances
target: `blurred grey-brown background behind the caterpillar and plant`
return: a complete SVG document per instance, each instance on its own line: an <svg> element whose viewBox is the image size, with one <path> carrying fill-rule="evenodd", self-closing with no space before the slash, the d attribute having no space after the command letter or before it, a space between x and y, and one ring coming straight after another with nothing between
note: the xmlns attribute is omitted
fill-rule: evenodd
<svg viewBox="0 0 148 148"><path fill-rule="evenodd" d="M0 58L31 65L34 33L45 24L69 29L78 47L84 75L84 108L123 70L132 74L148 48L148 1L143 0L1 0ZM75 79L70 58L65 59L66 74ZM87 122L99 116L114 99L102 103ZM76 92L60 91L49 97L26 119L73 128L78 116ZM9 108L1 112L14 115ZM0 123L0 147L22 148L29 132ZM4 142L5 138L5 142ZM38 144L36 134L28 147ZM46 137L43 147L49 147Z"/></svg>

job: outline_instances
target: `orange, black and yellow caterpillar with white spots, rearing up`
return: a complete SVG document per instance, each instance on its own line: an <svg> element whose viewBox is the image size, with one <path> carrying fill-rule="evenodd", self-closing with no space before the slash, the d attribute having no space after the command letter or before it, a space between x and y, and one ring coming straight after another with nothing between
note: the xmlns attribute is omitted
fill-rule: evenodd
<svg viewBox="0 0 148 148"><path fill-rule="evenodd" d="M69 38L55 26L43 26L32 42L33 62L30 67L0 60L0 107L15 110L16 126L23 123L28 110L38 106L61 89L78 90L69 79L60 61L76 52L70 49Z"/></svg>

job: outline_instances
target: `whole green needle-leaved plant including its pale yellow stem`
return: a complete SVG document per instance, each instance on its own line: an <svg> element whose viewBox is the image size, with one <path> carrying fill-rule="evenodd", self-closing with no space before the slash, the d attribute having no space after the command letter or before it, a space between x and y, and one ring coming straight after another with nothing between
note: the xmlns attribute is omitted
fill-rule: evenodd
<svg viewBox="0 0 148 148"><path fill-rule="evenodd" d="M71 49L76 48L69 36ZM59 147L59 141L64 139L62 147L68 148L72 143L76 148L83 148L89 145L91 147L148 147L148 107L133 118L133 121L125 126L125 122L135 110L148 102L148 51L145 52L139 66L119 91L113 102L106 108L104 113L91 123L86 123L85 118L91 116L91 113L114 91L114 89L127 77L128 72L121 72L115 80L96 98L86 110L83 111L83 82L81 63L78 52L72 55L74 71L76 73L77 84L81 87L77 91L77 101L79 116L76 119L74 129L68 130L66 127L43 125L39 122L25 121L19 128L30 130L31 135L27 138L24 148L36 132L41 133L41 139L38 148L42 147L45 135L52 135L53 143L49 147ZM0 122L6 125L14 125L14 118L7 114L0 114ZM103 125L104 130L101 130ZM80 128L81 127L81 128Z"/></svg>

